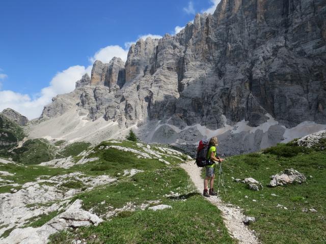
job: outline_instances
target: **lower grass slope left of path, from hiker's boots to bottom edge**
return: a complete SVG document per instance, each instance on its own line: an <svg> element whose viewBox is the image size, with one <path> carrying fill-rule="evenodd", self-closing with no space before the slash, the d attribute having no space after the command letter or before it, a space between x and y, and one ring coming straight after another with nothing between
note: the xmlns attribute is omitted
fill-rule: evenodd
<svg viewBox="0 0 326 244"><path fill-rule="evenodd" d="M236 243L218 208L201 196L170 204L172 209L138 210L75 233L63 231L52 235L50 243L84 238L87 243Z"/></svg>

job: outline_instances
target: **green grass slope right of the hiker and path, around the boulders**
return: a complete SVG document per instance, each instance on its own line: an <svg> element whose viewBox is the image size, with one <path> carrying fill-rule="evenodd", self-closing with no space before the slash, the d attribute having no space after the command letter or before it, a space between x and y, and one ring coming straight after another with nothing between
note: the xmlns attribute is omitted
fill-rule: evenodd
<svg viewBox="0 0 326 244"><path fill-rule="evenodd" d="M269 177L287 168L305 174L307 182L268 188ZM222 199L240 206L244 214L257 219L250 228L256 230L263 243L326 242L325 151L279 144L264 150L264 153L230 157L223 164L223 170L228 195L222 193ZM245 184L232 181L231 177L253 177L264 189L251 191ZM217 184L216 180L215 189ZM271 196L273 193L278 196ZM288 209L277 208L278 204ZM303 208L315 208L318 212L303 212Z"/></svg>

